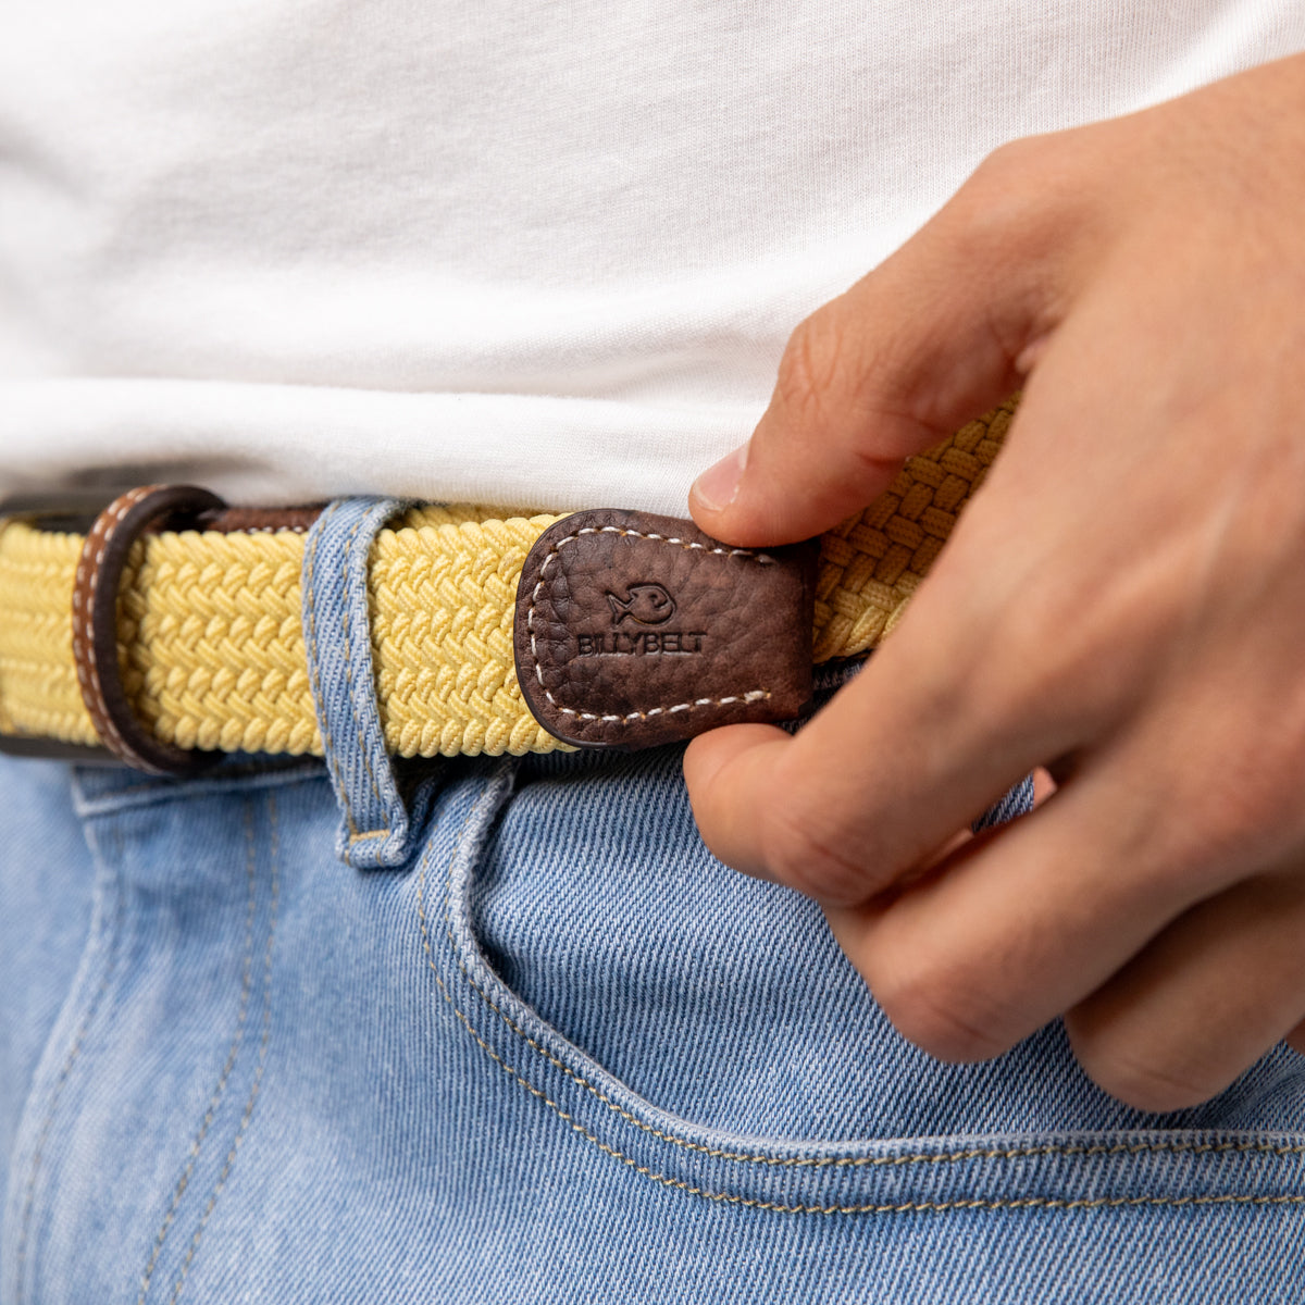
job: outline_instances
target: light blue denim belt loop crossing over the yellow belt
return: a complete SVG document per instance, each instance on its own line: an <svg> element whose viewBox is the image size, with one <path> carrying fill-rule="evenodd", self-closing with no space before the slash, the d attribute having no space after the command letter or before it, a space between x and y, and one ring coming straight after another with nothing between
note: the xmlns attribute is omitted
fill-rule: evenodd
<svg viewBox="0 0 1305 1305"><path fill-rule="evenodd" d="M355 869L394 868L410 851L411 821L376 705L367 598L372 539L405 506L398 499L338 499L304 542L304 645L342 814L335 855Z"/></svg>

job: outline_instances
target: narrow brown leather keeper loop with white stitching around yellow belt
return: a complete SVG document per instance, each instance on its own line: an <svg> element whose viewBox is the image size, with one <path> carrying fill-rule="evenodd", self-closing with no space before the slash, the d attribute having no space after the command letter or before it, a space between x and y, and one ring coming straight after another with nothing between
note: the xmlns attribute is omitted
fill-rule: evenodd
<svg viewBox="0 0 1305 1305"><path fill-rule="evenodd" d="M91 526L73 589L73 660L82 701L104 746L120 761L158 775L206 770L222 753L189 752L154 737L136 719L117 666L117 589L132 544L179 515L226 504L194 485L142 485L115 499Z"/></svg>

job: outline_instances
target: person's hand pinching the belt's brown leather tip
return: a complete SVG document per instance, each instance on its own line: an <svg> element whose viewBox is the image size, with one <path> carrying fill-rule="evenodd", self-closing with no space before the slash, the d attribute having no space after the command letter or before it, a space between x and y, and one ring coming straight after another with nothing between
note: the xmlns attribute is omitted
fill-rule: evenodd
<svg viewBox="0 0 1305 1305"><path fill-rule="evenodd" d="M1062 1014L1101 1087L1177 1109L1305 1051L1305 56L997 150L797 328L693 517L816 535L1017 389L861 675L685 778L911 1041L981 1060ZM958 834L1039 766L1032 814Z"/></svg>

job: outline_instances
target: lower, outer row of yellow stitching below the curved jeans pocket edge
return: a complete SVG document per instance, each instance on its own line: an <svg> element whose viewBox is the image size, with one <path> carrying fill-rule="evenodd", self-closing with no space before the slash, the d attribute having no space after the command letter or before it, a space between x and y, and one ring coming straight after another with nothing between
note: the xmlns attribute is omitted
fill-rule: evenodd
<svg viewBox="0 0 1305 1305"><path fill-rule="evenodd" d="M462 820L462 826L458 830L457 840L454 842L453 851L449 855L449 870L452 878L452 869L457 860L458 851L462 847L462 839L466 835L467 825L471 817L480 809L480 800L471 804L467 814ZM615 1160L620 1160L621 1164L633 1169L636 1173L642 1174L645 1178L651 1178L654 1182L660 1184L664 1188L672 1188L676 1191L684 1191L686 1195L702 1197L706 1201L715 1201L722 1205L736 1205L746 1206L752 1210L769 1210L773 1214L803 1214L803 1215L860 1215L860 1214L940 1214L949 1210L1100 1210L1100 1208L1116 1208L1128 1206L1216 1206L1216 1205L1244 1205L1244 1206L1280 1206L1280 1205L1305 1205L1305 1194L1285 1194L1285 1195L1242 1195L1237 1193L1224 1193L1215 1195L1202 1195L1202 1197L1083 1197L1083 1198L1058 1198L1058 1197L1011 1197L1009 1199L996 1199L984 1201L981 1198L971 1199L957 1199L957 1201L906 1201L898 1203L887 1202L868 1202L864 1205L847 1205L847 1206L812 1206L812 1205L783 1205L778 1201L760 1201L753 1197L741 1197L737 1193L729 1191L710 1191L706 1188L697 1188L683 1178L672 1178L664 1173L658 1173L649 1165L639 1164L633 1156L626 1155L624 1151L619 1151L616 1147L609 1146L600 1138L595 1137L582 1124L579 1124L573 1116L570 1116L561 1105L557 1104L551 1096L543 1092L540 1088L535 1087L527 1078L525 1078L514 1066L509 1065L476 1031L467 1017L458 1009L453 1000L452 993L444 983L442 976L435 963L435 953L431 947L431 934L427 928L425 919L425 872L431 861L432 847L427 848L425 855L422 857L422 869L418 874L418 917L422 925L422 946L425 949L427 964L431 967L431 974L435 976L436 984L438 984L440 993L444 1000L449 1004L449 1007L457 1015L458 1022L463 1028L471 1035L480 1049L512 1079L514 1079L521 1087L523 1087L531 1096L538 1098L544 1103L559 1118L561 1118L573 1131L578 1133L586 1142L591 1142L599 1151L612 1156ZM466 971L463 970L463 974ZM470 975L467 976L470 981ZM472 985L474 987L474 985ZM479 989L476 989L479 992ZM484 996L483 993L480 994ZM638 1122L638 1121L636 1121ZM669 1139L675 1141L675 1139ZM1066 1152L1061 1152L1066 1154ZM934 1156L928 1156L923 1159L933 1160Z"/></svg>

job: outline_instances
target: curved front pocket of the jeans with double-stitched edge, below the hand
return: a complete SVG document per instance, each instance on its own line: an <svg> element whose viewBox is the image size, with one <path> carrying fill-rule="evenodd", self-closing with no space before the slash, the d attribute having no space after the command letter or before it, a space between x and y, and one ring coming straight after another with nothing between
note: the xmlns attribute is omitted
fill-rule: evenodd
<svg viewBox="0 0 1305 1305"><path fill-rule="evenodd" d="M510 763L419 872L465 1032L603 1163L776 1214L1305 1201L1295 1053L1164 1117L1099 1091L1058 1024L938 1064L812 903L710 857L679 756Z"/></svg>

